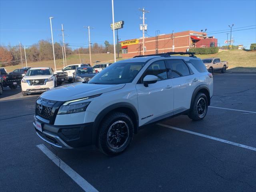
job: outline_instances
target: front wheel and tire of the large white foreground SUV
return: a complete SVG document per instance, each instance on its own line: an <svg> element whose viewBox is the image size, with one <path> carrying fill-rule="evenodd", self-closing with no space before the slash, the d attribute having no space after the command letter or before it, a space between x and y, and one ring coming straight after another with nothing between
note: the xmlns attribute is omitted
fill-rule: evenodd
<svg viewBox="0 0 256 192"><path fill-rule="evenodd" d="M121 112L109 114L100 125L97 147L108 156L120 154L128 148L134 136L131 118Z"/></svg>

